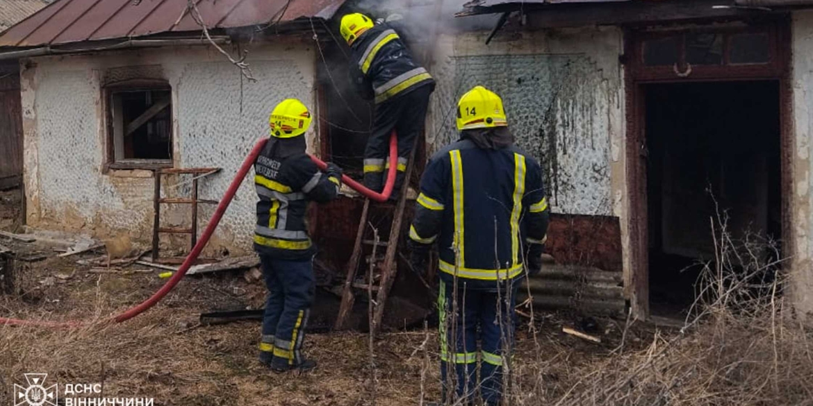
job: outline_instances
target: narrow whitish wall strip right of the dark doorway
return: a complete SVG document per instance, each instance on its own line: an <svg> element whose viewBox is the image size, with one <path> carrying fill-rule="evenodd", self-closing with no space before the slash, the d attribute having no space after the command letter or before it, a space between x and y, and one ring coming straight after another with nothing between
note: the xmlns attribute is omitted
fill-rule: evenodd
<svg viewBox="0 0 813 406"><path fill-rule="evenodd" d="M811 135L813 135L813 11L793 13L793 194L789 197L793 301L813 317L813 210L811 210Z"/></svg>

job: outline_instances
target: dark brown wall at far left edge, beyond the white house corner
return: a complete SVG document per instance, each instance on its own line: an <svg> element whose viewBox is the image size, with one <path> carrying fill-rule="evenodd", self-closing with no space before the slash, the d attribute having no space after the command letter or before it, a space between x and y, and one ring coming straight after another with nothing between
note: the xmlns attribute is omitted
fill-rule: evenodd
<svg viewBox="0 0 813 406"><path fill-rule="evenodd" d="M23 175L23 123L20 75L0 67L0 189L18 186Z"/></svg>

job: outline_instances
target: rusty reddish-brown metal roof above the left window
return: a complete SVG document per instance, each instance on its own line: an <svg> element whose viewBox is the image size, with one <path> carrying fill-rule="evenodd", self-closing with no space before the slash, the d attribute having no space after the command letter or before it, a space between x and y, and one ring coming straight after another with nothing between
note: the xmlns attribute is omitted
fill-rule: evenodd
<svg viewBox="0 0 813 406"><path fill-rule="evenodd" d="M329 19L344 3L344 0L194 1L210 29L286 23L307 17ZM187 5L188 0L57 0L2 32L0 47L200 31Z"/></svg>

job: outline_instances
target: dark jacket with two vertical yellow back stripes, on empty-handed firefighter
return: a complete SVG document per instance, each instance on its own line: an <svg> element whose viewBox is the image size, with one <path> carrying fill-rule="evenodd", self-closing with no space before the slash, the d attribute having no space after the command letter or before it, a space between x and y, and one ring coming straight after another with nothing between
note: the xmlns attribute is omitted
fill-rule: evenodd
<svg viewBox="0 0 813 406"><path fill-rule="evenodd" d="M524 275L524 253L544 244L548 215L536 160L514 146L480 149L460 140L430 159L410 238L437 241L446 282L456 275L469 287L494 288Z"/></svg>

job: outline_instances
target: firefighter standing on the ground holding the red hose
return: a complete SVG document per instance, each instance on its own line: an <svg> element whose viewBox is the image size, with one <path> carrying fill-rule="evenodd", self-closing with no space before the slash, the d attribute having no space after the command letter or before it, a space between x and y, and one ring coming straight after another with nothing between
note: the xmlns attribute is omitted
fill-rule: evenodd
<svg viewBox="0 0 813 406"><path fill-rule="evenodd" d="M301 352L315 290L316 248L305 215L308 201L322 203L338 196L341 170L330 163L323 173L305 153L304 134L311 126L311 113L302 102L281 102L269 122L271 138L254 162L259 196L254 250L270 292L259 359L281 373L316 366Z"/></svg>

